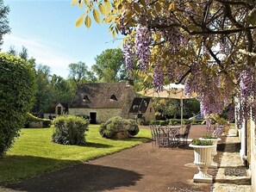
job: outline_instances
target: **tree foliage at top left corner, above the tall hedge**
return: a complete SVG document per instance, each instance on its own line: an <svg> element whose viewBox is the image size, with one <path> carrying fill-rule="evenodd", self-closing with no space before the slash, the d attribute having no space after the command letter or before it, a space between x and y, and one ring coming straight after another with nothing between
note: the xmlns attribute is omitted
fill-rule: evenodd
<svg viewBox="0 0 256 192"><path fill-rule="evenodd" d="M0 51L3 44L3 35L10 32L8 14L9 7L3 4L3 0L0 0Z"/></svg>

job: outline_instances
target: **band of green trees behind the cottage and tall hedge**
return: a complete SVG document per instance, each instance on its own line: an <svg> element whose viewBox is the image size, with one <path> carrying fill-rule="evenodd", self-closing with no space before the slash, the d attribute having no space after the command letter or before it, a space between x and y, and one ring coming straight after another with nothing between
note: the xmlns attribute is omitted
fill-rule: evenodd
<svg viewBox="0 0 256 192"><path fill-rule="evenodd" d="M53 102L71 102L79 84L118 82L126 78L121 49L107 49L97 55L96 64L91 70L81 61L70 64L67 79L52 74L47 65L36 65L36 60L28 57L28 49L25 46L22 46L20 52L15 46L10 46L7 53L24 59L34 71L36 93L32 112L43 112Z"/></svg>

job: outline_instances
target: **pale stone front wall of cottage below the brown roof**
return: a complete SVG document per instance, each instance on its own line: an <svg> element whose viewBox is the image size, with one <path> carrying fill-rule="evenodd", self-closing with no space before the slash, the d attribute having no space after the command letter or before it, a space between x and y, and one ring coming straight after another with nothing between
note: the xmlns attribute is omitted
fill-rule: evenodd
<svg viewBox="0 0 256 192"><path fill-rule="evenodd" d="M111 117L122 116L122 108L69 108L71 115L88 115L97 113L97 123L108 121Z"/></svg>

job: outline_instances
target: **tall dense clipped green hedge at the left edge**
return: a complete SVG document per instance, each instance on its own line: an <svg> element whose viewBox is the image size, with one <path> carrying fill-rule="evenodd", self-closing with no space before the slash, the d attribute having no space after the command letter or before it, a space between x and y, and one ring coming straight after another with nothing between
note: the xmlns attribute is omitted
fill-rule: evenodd
<svg viewBox="0 0 256 192"><path fill-rule="evenodd" d="M0 53L0 157L24 125L34 102L34 71L23 59Z"/></svg>

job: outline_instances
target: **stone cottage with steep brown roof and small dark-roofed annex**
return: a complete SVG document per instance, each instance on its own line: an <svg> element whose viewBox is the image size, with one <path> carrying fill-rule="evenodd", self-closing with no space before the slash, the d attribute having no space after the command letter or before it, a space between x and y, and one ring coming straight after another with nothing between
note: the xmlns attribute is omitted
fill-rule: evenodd
<svg viewBox="0 0 256 192"><path fill-rule="evenodd" d="M128 82L81 84L69 106L69 114L87 115L91 123L113 116L151 121L154 113L151 100L136 98L134 86Z"/></svg>

